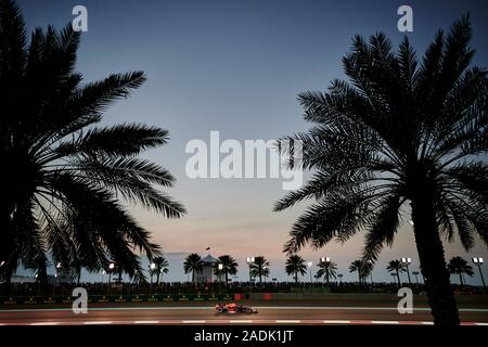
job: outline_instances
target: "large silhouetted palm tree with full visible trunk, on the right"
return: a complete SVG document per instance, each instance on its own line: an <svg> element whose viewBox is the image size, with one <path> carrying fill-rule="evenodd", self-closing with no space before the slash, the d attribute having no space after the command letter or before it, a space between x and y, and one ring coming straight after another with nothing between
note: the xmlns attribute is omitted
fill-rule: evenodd
<svg viewBox="0 0 488 347"><path fill-rule="evenodd" d="M300 94L316 127L279 146L293 154L291 144L301 141L299 165L314 175L274 209L317 201L293 226L285 250L365 230L363 258L376 260L393 244L400 213L411 211L428 303L444 325L458 325L459 313L441 239L458 234L470 249L478 233L488 243L488 164L480 158L488 150L488 78L470 67L471 37L463 16L448 35L437 33L419 62L408 38L394 53L383 34L357 36L343 59L350 82Z"/></svg>

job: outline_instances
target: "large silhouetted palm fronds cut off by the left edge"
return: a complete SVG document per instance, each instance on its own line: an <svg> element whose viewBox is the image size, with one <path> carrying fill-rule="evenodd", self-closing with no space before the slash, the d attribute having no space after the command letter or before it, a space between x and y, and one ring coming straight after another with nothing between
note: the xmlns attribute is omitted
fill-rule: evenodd
<svg viewBox="0 0 488 347"><path fill-rule="evenodd" d="M75 70L80 34L37 28L27 43L12 0L0 0L0 259L10 281L20 261L46 258L89 270L112 259L125 272L139 254L157 256L150 233L118 197L177 218L181 204L158 190L174 184L163 167L139 157L168 141L168 131L141 124L97 126L115 101L140 87L142 72L81 83Z"/></svg>

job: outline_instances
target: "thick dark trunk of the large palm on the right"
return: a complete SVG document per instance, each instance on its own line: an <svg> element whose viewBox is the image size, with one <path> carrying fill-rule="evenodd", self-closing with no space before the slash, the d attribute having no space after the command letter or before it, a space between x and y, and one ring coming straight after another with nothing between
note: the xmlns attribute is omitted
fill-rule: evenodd
<svg viewBox="0 0 488 347"><path fill-rule="evenodd" d="M459 325L459 312L437 228L434 200L429 198L428 184L419 184L416 188L411 203L413 230L434 323Z"/></svg>

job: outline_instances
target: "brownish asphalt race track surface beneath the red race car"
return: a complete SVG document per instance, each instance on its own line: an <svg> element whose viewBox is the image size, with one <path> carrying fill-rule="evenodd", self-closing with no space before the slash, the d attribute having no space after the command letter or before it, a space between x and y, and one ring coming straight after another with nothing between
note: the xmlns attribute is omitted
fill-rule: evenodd
<svg viewBox="0 0 488 347"><path fill-rule="evenodd" d="M396 307L286 306L262 303L258 313L217 313L211 304L196 306L92 306L75 314L64 308L0 309L0 325L431 325L427 307L400 314ZM488 325L488 308L460 308L463 325Z"/></svg>

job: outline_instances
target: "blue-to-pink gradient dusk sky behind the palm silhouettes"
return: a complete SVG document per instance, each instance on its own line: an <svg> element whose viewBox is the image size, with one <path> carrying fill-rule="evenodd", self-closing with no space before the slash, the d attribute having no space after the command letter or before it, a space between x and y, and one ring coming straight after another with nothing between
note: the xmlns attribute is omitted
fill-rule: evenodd
<svg viewBox="0 0 488 347"><path fill-rule="evenodd" d="M168 278L183 280L182 258L192 252L214 256L231 254L247 279L246 256L265 255L271 278L286 279L282 253L288 230L304 206L272 213L283 196L280 179L197 179L185 175L192 139L208 141L211 130L222 139L277 139L310 125L296 102L299 92L324 90L333 78L344 77L341 59L356 34L384 31L395 43L398 7L414 11L411 42L423 53L439 28L448 29L461 14L471 12L475 63L488 65L488 4L480 1L91 1L20 0L27 27L62 27L73 20L72 9L88 9L88 33L82 35L78 70L86 81L111 73L142 69L147 82L129 100L116 103L103 124L145 123L170 131L168 145L146 156L168 168L177 187L168 191L189 210L180 220L167 220L132 208L140 223L153 232L171 261ZM404 220L409 219L406 216ZM331 243L319 252L305 249L307 260L329 256L344 279L361 250L363 234L342 245ZM447 257L488 258L481 242L467 255L459 243L447 245ZM391 280L386 262L409 256L419 267L412 229L401 227L394 247L385 248L374 280ZM458 281L455 277L453 282ZM478 273L468 283L479 283Z"/></svg>

